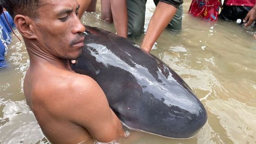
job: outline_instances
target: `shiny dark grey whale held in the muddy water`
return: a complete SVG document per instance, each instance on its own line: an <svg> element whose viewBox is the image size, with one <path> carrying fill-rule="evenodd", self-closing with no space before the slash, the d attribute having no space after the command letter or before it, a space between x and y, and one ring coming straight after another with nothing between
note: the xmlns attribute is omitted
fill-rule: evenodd
<svg viewBox="0 0 256 144"><path fill-rule="evenodd" d="M92 77L120 121L137 130L189 138L206 123L206 109L165 63L132 41L86 27L75 72Z"/></svg>

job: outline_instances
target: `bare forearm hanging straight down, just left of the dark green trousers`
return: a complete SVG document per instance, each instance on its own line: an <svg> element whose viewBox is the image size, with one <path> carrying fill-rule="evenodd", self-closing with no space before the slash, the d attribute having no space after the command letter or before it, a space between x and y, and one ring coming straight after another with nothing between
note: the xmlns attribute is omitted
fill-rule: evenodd
<svg viewBox="0 0 256 144"><path fill-rule="evenodd" d="M111 11L117 34L127 38L126 0L111 0Z"/></svg>

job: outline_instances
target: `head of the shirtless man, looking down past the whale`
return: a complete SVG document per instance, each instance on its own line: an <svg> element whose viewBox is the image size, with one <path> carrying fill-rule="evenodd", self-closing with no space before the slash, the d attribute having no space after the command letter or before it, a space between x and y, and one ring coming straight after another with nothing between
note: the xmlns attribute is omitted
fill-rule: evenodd
<svg viewBox="0 0 256 144"><path fill-rule="evenodd" d="M85 27L77 0L1 0L23 36L29 53L48 58L78 58Z"/></svg>

